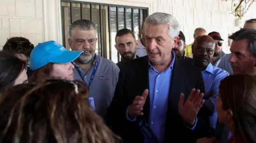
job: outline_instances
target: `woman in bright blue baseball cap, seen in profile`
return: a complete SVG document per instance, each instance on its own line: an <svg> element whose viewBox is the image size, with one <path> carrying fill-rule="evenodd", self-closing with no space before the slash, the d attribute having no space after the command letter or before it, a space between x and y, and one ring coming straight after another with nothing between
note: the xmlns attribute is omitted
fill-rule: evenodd
<svg viewBox="0 0 256 143"><path fill-rule="evenodd" d="M71 63L83 51L68 51L55 41L38 43L30 54L30 82L41 82L49 78L74 80L74 65Z"/></svg>

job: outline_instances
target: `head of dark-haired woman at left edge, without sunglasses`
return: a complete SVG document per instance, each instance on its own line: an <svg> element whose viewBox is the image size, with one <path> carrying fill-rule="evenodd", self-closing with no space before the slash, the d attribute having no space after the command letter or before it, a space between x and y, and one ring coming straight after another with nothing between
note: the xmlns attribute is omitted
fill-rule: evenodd
<svg viewBox="0 0 256 143"><path fill-rule="evenodd" d="M28 80L27 64L18 57L6 51L0 51L0 94L10 86L21 84Z"/></svg>

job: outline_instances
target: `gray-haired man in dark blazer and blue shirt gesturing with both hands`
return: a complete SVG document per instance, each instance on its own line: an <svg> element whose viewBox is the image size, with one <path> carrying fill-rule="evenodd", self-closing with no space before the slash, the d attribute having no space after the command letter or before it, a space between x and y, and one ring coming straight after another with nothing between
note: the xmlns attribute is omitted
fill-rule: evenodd
<svg viewBox="0 0 256 143"><path fill-rule="evenodd" d="M106 123L126 143L195 143L209 129L202 72L175 57L180 26L172 15L157 12L144 24L148 56L120 70Z"/></svg>

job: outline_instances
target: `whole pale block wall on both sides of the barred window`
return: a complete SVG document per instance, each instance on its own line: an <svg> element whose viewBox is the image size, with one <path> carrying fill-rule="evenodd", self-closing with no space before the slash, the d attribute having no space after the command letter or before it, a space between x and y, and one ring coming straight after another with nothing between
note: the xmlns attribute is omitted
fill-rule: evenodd
<svg viewBox="0 0 256 143"><path fill-rule="evenodd" d="M192 43L196 27L209 33L218 31L225 40L224 52L229 52L228 34L237 31L231 13L232 0L83 0L88 2L131 5L149 8L149 14L166 12L181 25L187 43ZM256 2L242 20L256 18ZM55 40L62 43L60 0L0 0L0 49L6 39L22 36L35 45Z"/></svg>

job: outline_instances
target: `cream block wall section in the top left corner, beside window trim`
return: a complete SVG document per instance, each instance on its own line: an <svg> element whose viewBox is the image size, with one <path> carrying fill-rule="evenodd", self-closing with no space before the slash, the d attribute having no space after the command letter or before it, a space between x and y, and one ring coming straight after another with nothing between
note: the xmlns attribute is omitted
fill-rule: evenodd
<svg viewBox="0 0 256 143"><path fill-rule="evenodd" d="M0 0L0 49L10 37L42 42L43 28L42 0Z"/></svg>

